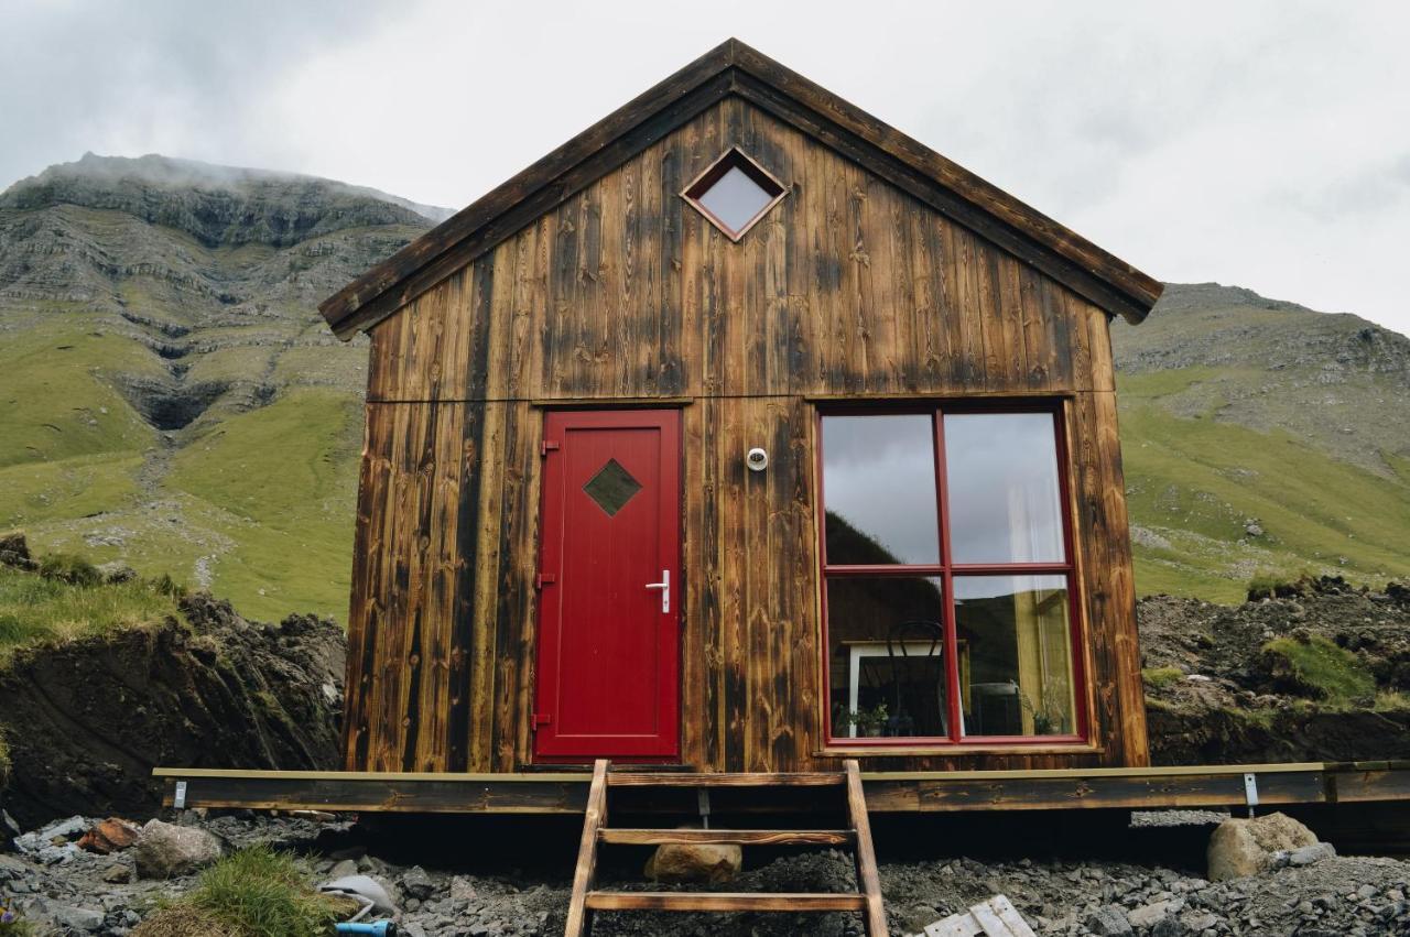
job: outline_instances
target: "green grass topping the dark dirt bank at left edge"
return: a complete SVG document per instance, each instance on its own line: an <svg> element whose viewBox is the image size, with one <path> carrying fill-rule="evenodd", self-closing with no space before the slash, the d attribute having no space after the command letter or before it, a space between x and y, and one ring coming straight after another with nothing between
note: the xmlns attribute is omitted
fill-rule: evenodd
<svg viewBox="0 0 1410 937"><path fill-rule="evenodd" d="M176 614L145 581L80 586L0 566L0 661L17 648L141 627Z"/></svg>

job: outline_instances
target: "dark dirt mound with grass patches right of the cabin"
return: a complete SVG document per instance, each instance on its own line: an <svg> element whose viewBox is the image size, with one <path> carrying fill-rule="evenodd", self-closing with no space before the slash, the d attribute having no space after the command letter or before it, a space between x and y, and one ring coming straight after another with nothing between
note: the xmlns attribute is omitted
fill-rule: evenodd
<svg viewBox="0 0 1410 937"><path fill-rule="evenodd" d="M1410 757L1410 589L1340 578L1136 609L1156 764Z"/></svg>

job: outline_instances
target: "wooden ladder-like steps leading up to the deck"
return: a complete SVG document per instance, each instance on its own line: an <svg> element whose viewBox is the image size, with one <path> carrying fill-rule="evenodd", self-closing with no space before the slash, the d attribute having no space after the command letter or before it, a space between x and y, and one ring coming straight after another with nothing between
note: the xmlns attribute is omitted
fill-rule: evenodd
<svg viewBox="0 0 1410 937"><path fill-rule="evenodd" d="M596 910L656 912L862 912L867 937L885 937L885 912L881 907L881 878L877 875L876 851L867 802L862 793L862 774L856 759L845 762L842 772L812 774L611 774L609 762L592 767L588 809L582 819L582 843L578 868L572 876L565 937L582 937ZM609 788L774 788L774 786L846 786L846 830L626 830L608 827ZM596 891L598 847L616 845L842 845L852 847L857 865L857 892L612 892Z"/></svg>

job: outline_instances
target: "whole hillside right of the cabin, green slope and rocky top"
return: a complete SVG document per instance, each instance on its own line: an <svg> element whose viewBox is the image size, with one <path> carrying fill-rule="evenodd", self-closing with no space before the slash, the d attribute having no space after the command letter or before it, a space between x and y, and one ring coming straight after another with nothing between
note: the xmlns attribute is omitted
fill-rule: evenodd
<svg viewBox="0 0 1410 937"><path fill-rule="evenodd" d="M1410 575L1410 340L1194 285L1112 344L1141 593Z"/></svg>

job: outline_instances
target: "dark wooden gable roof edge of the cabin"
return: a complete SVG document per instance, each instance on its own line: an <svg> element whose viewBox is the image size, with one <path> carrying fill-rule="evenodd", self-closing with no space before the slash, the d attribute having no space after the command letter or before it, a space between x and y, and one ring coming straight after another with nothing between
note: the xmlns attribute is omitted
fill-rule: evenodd
<svg viewBox="0 0 1410 937"><path fill-rule="evenodd" d="M371 328L544 211L735 94L1038 268L1139 323L1163 285L1081 235L814 85L728 39L323 300L340 338Z"/></svg>

